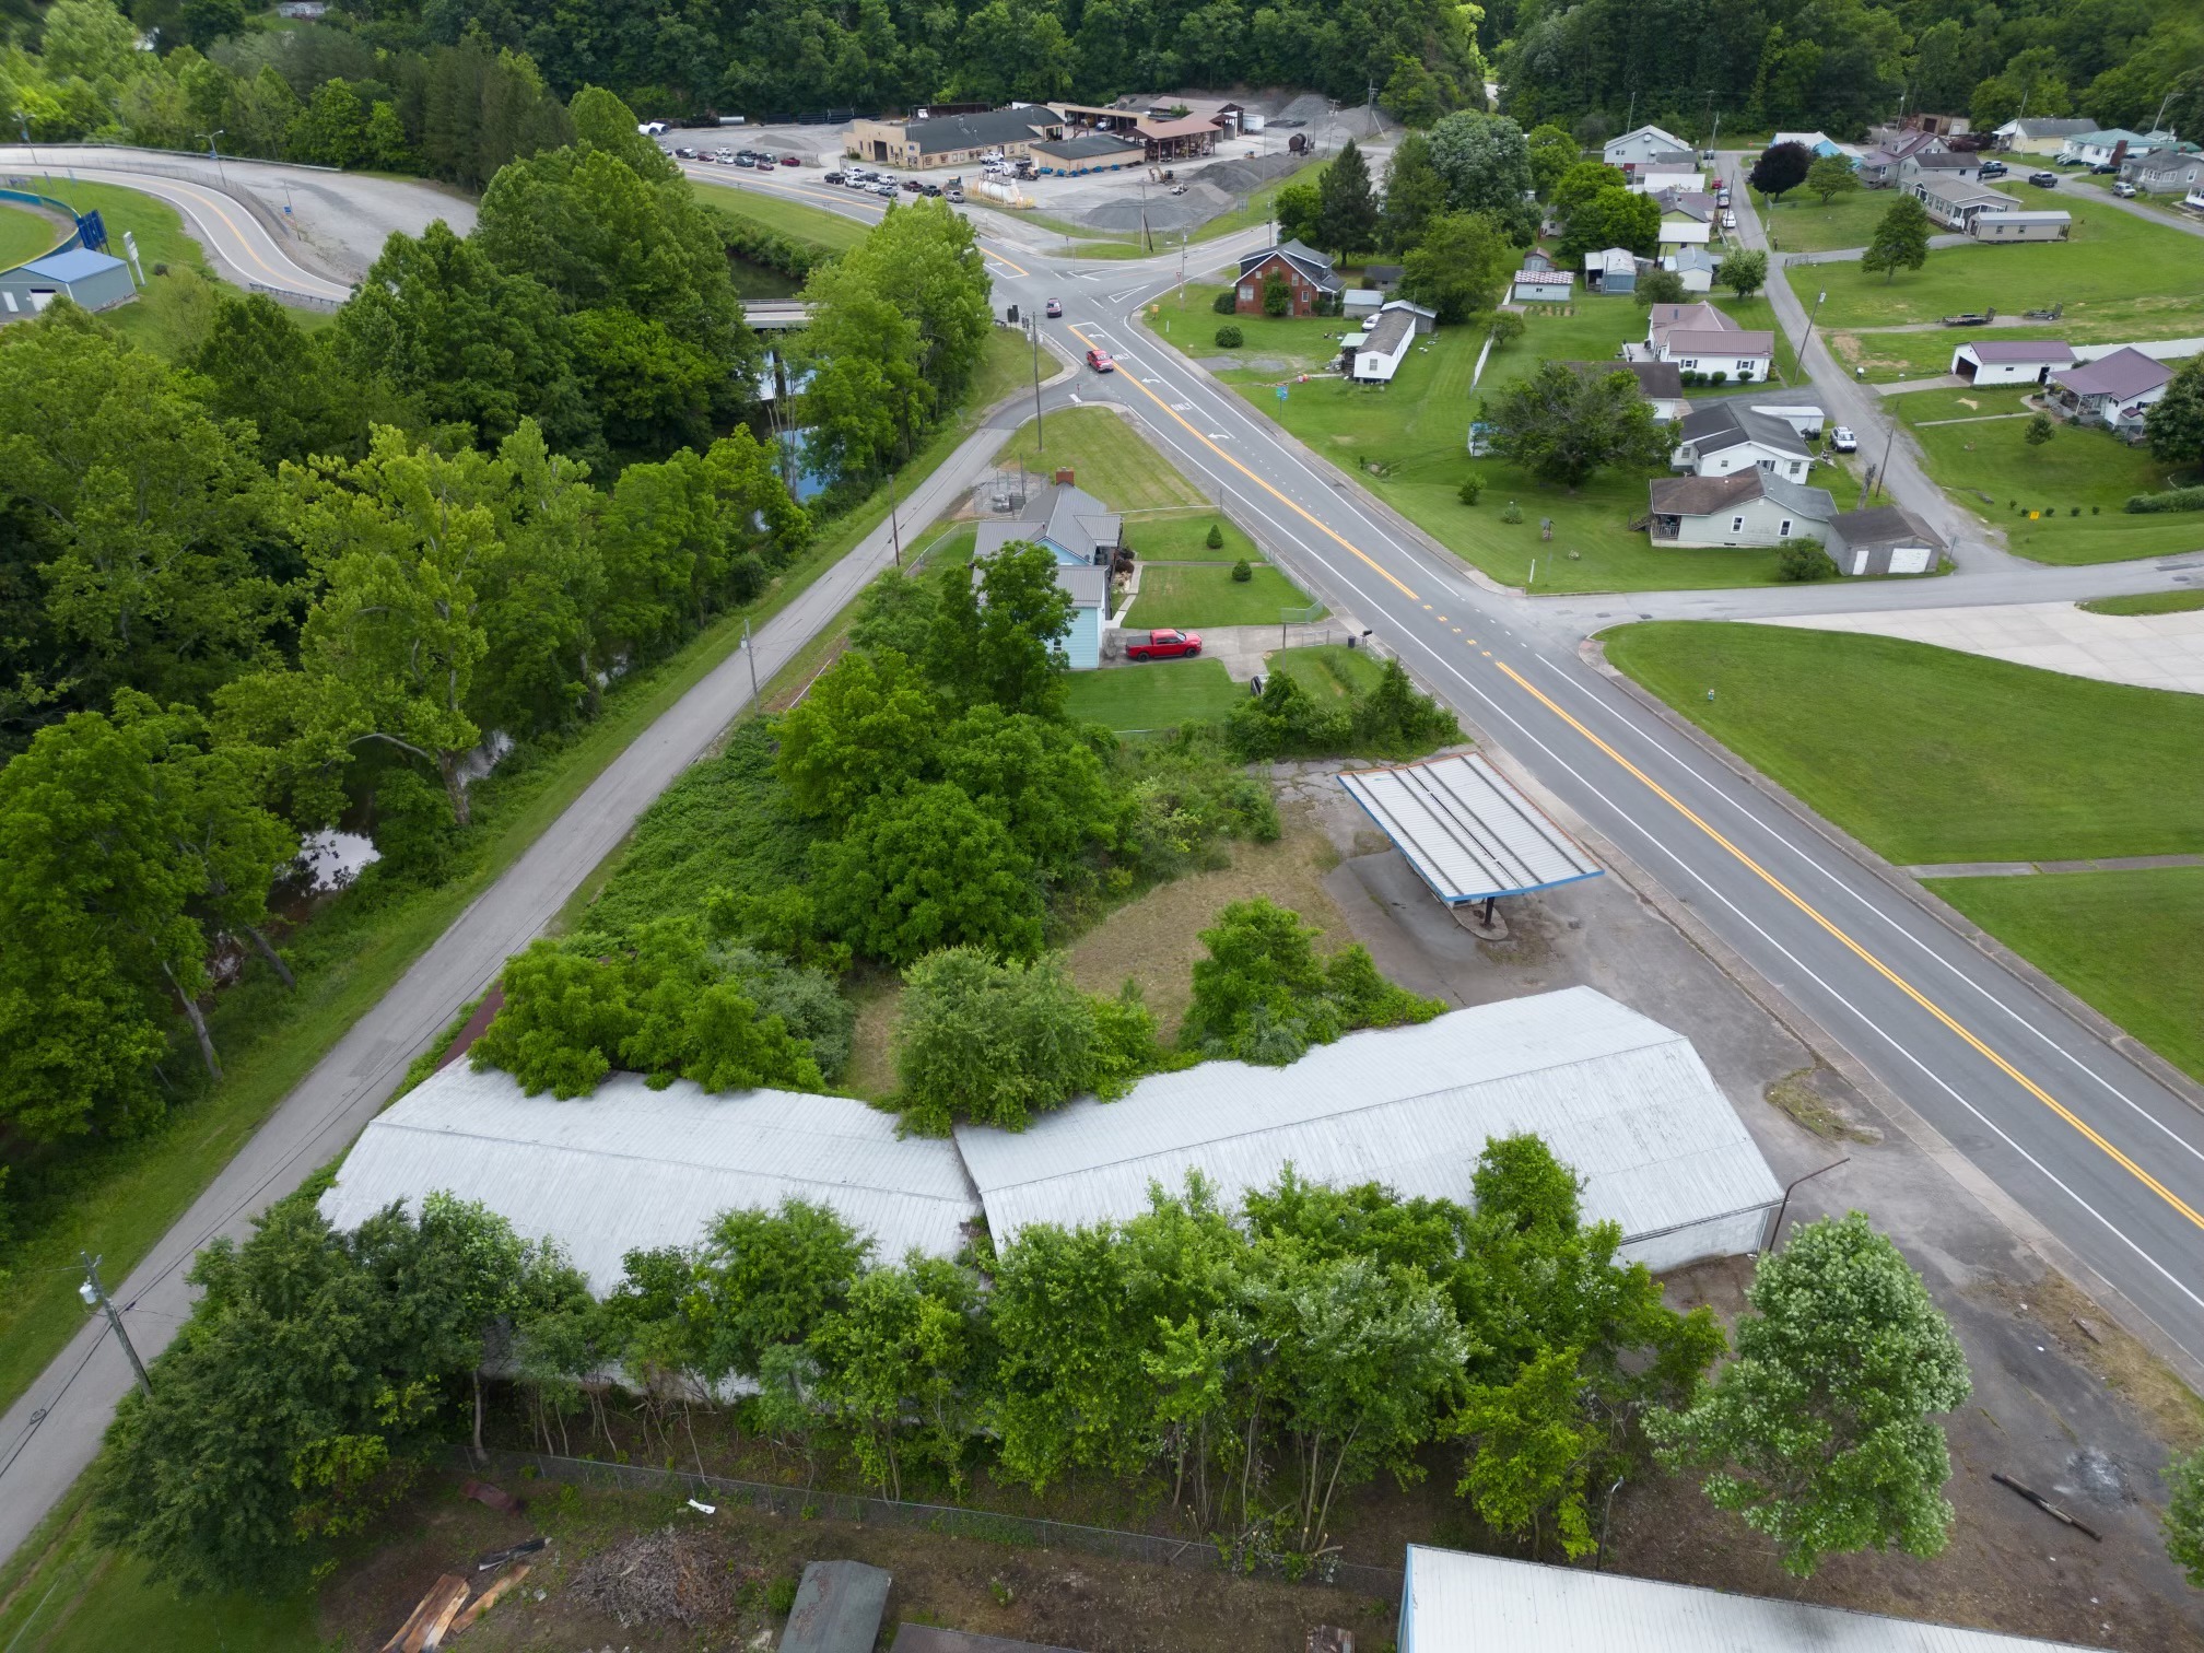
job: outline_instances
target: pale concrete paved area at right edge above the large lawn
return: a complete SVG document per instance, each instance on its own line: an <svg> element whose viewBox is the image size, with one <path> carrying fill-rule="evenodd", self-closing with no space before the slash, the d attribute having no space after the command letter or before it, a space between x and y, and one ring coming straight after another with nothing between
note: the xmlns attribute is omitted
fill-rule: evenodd
<svg viewBox="0 0 2204 1653"><path fill-rule="evenodd" d="M1763 624L1902 637L2067 677L2204 694L2204 608L2180 615L2092 615L2070 602L2021 602L1997 608L1770 615Z"/></svg>

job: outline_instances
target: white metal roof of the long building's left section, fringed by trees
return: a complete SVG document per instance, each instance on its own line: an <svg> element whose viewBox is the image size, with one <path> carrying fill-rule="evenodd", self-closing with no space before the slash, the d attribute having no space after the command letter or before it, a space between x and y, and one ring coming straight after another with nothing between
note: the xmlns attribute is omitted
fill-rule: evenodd
<svg viewBox="0 0 2204 1653"><path fill-rule="evenodd" d="M611 1073L595 1095L558 1102L465 1060L368 1124L322 1214L357 1228L392 1201L417 1212L432 1190L560 1241L599 1296L626 1252L690 1245L721 1212L791 1195L840 1212L890 1263L912 1245L954 1256L979 1214L952 1142L897 1139L895 1115L846 1095L652 1091Z"/></svg>

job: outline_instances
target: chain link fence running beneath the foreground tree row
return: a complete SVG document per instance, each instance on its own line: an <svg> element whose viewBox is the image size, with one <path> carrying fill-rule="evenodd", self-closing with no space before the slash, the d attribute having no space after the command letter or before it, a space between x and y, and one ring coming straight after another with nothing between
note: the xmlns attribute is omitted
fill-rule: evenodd
<svg viewBox="0 0 2204 1653"><path fill-rule="evenodd" d="M469 1474L483 1472L478 1466L465 1463L465 1452L454 1452L454 1463ZM564 1485L615 1492L685 1492L701 1503L738 1503L782 1516L919 1527L952 1538L979 1538L981 1543L1018 1545L1025 1549L1078 1549L1087 1556L1137 1560L1150 1567L1184 1567L1190 1571L1225 1569L1217 1545L1208 1538L1162 1538L1153 1532L1082 1527L1073 1521L1047 1521L1042 1516L1003 1514L998 1510L873 1499L857 1492L804 1490L769 1481L736 1481L725 1474L659 1470L648 1463L547 1457L542 1452L491 1452L487 1468L505 1481L520 1479L522 1472L533 1470L536 1479ZM1283 1576L1276 1569L1270 1569L1270 1574ZM1347 1560L1325 1563L1298 1582L1347 1589L1358 1596L1382 1596L1393 1602L1400 1600L1402 1591L1400 1569L1364 1567Z"/></svg>

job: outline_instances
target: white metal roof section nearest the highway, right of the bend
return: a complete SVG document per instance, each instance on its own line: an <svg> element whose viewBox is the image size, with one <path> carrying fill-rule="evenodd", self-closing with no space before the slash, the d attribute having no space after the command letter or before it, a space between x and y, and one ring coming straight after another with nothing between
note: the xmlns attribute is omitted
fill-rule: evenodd
<svg viewBox="0 0 2204 1653"><path fill-rule="evenodd" d="M1188 1170L1236 1203L1292 1164L1333 1186L1470 1199L1488 1137L1538 1133L1624 1239L1774 1206L1783 1190L1682 1034L1591 987L1349 1034L1292 1067L1203 1062L1020 1133L959 1126L994 1241L1137 1217Z"/></svg>

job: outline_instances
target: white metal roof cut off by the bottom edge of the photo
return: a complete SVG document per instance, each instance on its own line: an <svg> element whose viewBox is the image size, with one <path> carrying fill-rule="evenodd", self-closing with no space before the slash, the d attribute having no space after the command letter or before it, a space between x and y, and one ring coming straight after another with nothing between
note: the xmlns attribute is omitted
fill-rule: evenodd
<svg viewBox="0 0 2204 1653"><path fill-rule="evenodd" d="M2074 1649L1843 1607L1408 1545L1402 1653L2021 1653Z"/></svg>

